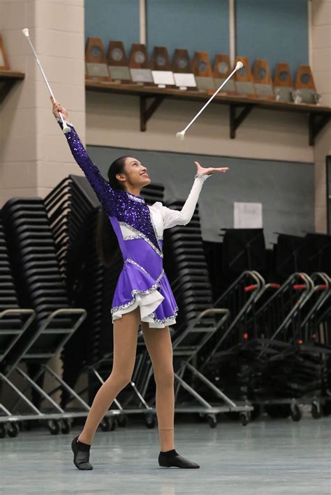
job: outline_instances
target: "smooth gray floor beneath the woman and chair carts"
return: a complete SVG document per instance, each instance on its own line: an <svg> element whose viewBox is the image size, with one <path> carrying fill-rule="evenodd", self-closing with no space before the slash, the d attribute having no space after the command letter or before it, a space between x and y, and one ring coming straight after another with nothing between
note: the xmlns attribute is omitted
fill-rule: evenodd
<svg viewBox="0 0 331 495"><path fill-rule="evenodd" d="M46 430L0 439L0 493L6 494L329 494L331 418L259 419L176 425L176 448L200 469L162 469L156 429L97 432L93 471L72 464L70 435Z"/></svg>

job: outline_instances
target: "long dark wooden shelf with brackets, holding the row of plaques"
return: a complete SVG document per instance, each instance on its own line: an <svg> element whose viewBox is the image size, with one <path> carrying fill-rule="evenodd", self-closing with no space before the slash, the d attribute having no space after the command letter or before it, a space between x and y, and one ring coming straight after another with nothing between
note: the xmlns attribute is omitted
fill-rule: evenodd
<svg viewBox="0 0 331 495"><path fill-rule="evenodd" d="M140 97L140 130L146 130L147 121L152 117L156 109L165 98L172 100L189 100L206 102L211 95L200 91L181 91L179 89L160 89L156 86L138 86L135 84L115 84L112 82L86 81L87 91L99 91L102 93L118 93L122 95L134 95ZM147 102L147 100L152 101ZM278 102L274 100L262 100L260 98L245 98L242 96L226 96L218 94L212 103L228 105L230 107L230 138L235 139L237 128L249 116L253 108L277 110L279 112L299 112L306 114L309 129L309 144L314 145L319 132L331 119L331 107L309 105L307 103Z"/></svg>

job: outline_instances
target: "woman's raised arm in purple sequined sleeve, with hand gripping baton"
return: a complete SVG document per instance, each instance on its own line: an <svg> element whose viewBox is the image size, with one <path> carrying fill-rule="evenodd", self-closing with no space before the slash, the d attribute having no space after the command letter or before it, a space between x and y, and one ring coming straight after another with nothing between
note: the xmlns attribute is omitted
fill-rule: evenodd
<svg viewBox="0 0 331 495"><path fill-rule="evenodd" d="M67 119L68 113L66 112L66 109L61 107L61 105L59 105L57 102L53 103L53 114L57 117L59 126L63 128L61 120L57 116L57 109L59 109L60 112L63 112L64 119ZM73 153L73 158L75 158L75 161L84 172L84 175L91 184L91 187L96 193L96 196L101 202L105 212L108 215L115 216L117 199L119 197L120 191L112 189L110 183L106 181L105 178L103 178L98 167L96 167L91 158L89 158L89 155L82 145L82 142L80 141L80 138L73 125L69 122L66 123L71 128L71 132L68 132L67 134L65 134L65 136L69 148L71 149L71 153Z"/></svg>

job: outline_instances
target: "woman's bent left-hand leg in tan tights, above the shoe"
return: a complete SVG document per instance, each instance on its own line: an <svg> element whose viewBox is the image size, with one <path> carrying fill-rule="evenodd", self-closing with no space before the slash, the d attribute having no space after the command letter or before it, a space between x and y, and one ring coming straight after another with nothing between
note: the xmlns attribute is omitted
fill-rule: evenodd
<svg viewBox="0 0 331 495"><path fill-rule="evenodd" d="M140 324L139 307L114 321L114 358L112 372L99 388L91 405L84 429L78 440L91 445L96 429L119 392L131 380L135 365L137 336Z"/></svg>

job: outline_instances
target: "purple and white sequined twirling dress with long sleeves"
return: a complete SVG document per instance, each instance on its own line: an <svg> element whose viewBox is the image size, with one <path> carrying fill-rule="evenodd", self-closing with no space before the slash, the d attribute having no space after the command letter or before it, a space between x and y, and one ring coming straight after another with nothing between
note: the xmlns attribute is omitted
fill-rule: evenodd
<svg viewBox="0 0 331 495"><path fill-rule="evenodd" d="M61 122L59 125L62 127ZM124 259L112 299L112 321L139 306L140 319L147 321L149 327L173 325L178 306L163 270L163 229L185 225L191 220L208 176L196 174L182 211L167 208L160 201L148 206L141 196L111 188L87 155L73 125L68 125L71 132L65 136L73 157L101 201Z"/></svg>

